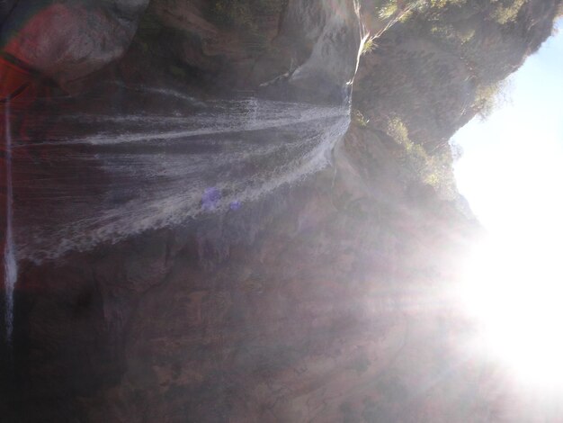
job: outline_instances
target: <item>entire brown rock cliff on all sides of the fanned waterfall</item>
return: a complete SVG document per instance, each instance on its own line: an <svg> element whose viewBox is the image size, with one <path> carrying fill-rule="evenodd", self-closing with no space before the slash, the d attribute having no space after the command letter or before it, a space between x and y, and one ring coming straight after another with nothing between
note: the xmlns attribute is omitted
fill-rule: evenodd
<svg viewBox="0 0 563 423"><path fill-rule="evenodd" d="M260 14L220 7L235 3ZM13 347L1 350L3 421L496 419L511 407L502 380L467 356L471 329L445 294L478 223L417 175L406 182L389 121L433 154L478 112L479 86L549 35L558 4L530 0L507 26L469 1L416 12L363 56L353 107L366 119L337 144L333 166L226 215L22 261ZM120 84L206 96L230 85L324 103L346 98L358 65L352 1L153 0L136 35L145 2L43 5L31 21L22 4L8 15L5 51L67 89L87 75L127 76ZM370 19L374 33L392 21ZM437 22L464 40L475 33L452 40L433 31ZM120 103L110 86L95 94ZM73 107L91 110L88 98ZM22 139L62 130L32 104L13 114ZM33 151L29 166L40 161ZM233 228L244 236L228 238Z"/></svg>

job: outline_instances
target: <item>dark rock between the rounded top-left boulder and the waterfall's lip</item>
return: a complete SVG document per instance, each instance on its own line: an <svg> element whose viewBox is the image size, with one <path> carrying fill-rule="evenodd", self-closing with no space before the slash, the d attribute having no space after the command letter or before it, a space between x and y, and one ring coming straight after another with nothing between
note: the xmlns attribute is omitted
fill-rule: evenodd
<svg viewBox="0 0 563 423"><path fill-rule="evenodd" d="M168 49L176 63L205 73L214 85L342 102L358 62L359 5L349 0L264 3L271 5L249 2L249 16L218 17L207 2L156 0L139 39L148 38L147 46L156 41L153 49L161 49L158 43L169 41L155 40L150 32L166 31L174 40Z"/></svg>

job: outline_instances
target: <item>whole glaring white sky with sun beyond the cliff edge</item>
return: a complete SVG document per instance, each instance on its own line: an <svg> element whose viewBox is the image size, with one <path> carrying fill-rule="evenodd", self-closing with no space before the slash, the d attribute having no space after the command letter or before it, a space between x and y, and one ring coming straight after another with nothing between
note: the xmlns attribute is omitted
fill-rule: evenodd
<svg viewBox="0 0 563 423"><path fill-rule="evenodd" d="M466 152L460 191L492 234L475 248L460 291L478 344L524 386L563 395L561 69L563 31L514 74L512 103L455 139Z"/></svg>

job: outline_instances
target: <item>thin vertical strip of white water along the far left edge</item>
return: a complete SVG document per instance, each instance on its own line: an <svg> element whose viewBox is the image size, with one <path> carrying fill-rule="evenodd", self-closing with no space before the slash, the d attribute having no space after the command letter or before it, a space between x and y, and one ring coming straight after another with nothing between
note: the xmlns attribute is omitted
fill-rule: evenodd
<svg viewBox="0 0 563 423"><path fill-rule="evenodd" d="M12 129L10 125L10 103L4 107L5 128L5 245L4 245L4 287L5 287L5 330L8 344L13 333L13 289L17 281L17 262L13 244L13 180L12 180Z"/></svg>

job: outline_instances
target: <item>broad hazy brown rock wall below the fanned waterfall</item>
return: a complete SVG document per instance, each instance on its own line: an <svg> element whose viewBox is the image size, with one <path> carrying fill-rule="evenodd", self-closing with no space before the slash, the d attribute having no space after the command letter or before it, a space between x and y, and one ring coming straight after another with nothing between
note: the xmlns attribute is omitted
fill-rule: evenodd
<svg viewBox="0 0 563 423"><path fill-rule="evenodd" d="M447 308L409 302L421 289L441 301L437 264L453 266L453 234L471 225L451 204L436 210L432 194L429 209L413 209L420 201L388 183L393 166L362 190L339 163L335 179L326 171L242 209L255 242L228 246L220 261L226 222L214 220L219 236L174 229L24 264L10 387L22 403L11 407L36 405L20 421L393 421L453 410L442 398L462 395L452 380L417 394L456 358L442 334ZM366 194L377 187L378 200ZM446 220L452 238L440 233Z"/></svg>

